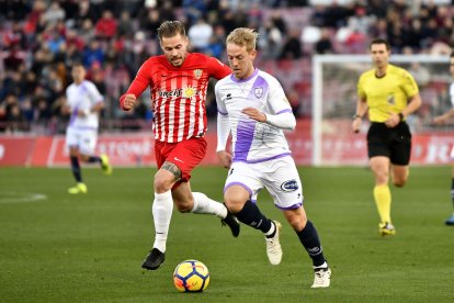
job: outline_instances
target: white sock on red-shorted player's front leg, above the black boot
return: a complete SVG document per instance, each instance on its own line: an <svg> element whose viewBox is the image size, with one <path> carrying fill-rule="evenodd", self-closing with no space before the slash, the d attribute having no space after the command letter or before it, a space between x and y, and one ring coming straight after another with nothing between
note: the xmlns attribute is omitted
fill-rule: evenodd
<svg viewBox="0 0 454 303"><path fill-rule="evenodd" d="M161 252L166 251L167 234L169 233L170 220L172 218L173 200L172 192L155 192L152 202L152 218L155 222L155 244L152 247L158 248Z"/></svg>

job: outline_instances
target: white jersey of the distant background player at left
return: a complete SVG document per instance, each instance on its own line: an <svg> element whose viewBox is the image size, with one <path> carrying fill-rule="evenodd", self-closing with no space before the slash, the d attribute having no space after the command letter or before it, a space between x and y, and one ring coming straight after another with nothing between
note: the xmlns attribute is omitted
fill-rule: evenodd
<svg viewBox="0 0 454 303"><path fill-rule="evenodd" d="M94 104L104 102L103 97L93 82L83 80L80 85L71 83L66 89L67 104L71 109L68 128L98 130L98 112L90 112L87 116L78 116L78 111L89 111Z"/></svg>

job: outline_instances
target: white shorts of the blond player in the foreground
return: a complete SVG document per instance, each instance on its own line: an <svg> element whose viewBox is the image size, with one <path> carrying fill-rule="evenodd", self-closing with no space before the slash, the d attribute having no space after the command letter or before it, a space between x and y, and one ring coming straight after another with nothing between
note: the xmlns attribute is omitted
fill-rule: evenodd
<svg viewBox="0 0 454 303"><path fill-rule="evenodd" d="M224 192L231 186L243 187L252 202L257 201L260 190L266 188L274 205L281 210L294 210L303 205L303 186L292 157L258 164L234 162Z"/></svg>

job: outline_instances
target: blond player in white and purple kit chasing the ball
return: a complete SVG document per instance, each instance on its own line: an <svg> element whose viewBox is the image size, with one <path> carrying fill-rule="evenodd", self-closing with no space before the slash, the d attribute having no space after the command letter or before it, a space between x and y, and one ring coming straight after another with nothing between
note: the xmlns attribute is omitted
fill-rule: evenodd
<svg viewBox="0 0 454 303"><path fill-rule="evenodd" d="M279 265L281 224L265 217L256 204L259 191L266 188L313 259L311 288L327 288L331 270L317 231L303 207L302 182L283 133L283 130L294 130L295 116L279 81L253 66L257 37L257 32L245 27L227 36L228 61L234 74L215 87L216 150L220 164L230 169L224 200L240 222L264 234L269 260ZM229 133L232 154L226 150Z"/></svg>

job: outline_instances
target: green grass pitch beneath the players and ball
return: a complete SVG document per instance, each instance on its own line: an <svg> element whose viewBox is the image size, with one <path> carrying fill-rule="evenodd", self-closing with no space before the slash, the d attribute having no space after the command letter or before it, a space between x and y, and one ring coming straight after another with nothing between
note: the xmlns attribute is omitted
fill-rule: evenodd
<svg viewBox="0 0 454 303"><path fill-rule="evenodd" d="M454 302L450 167L412 167L391 188L394 237L378 236L366 168L300 168L305 207L332 268L331 288L309 289L310 260L266 193L259 206L283 223L282 263L268 262L263 236L218 218L173 212L166 262L140 263L154 238L154 168L83 169L89 193L69 195L67 169L0 169L1 302ZM226 170L194 171L193 191L222 199ZM179 293L174 267L207 265L203 293Z"/></svg>

